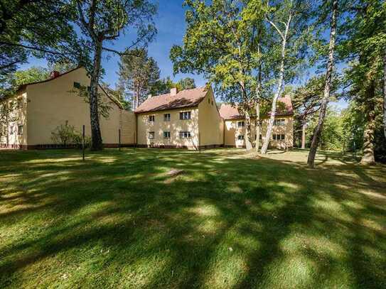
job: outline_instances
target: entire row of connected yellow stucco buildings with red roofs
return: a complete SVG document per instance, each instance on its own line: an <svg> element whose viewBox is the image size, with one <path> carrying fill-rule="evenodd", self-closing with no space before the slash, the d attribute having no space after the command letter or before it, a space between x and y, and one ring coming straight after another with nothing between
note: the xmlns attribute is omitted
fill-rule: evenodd
<svg viewBox="0 0 386 289"><path fill-rule="evenodd" d="M90 136L90 107L80 97L79 87L88 87L90 78L85 68L78 67L50 79L23 84L16 94L0 99L1 106L14 104L10 121L0 123L0 146L6 148L58 148L53 131L60 125L74 126L77 132L85 125ZM210 86L149 96L135 111L124 110L122 104L102 87L101 102L109 107L108 116L100 116L100 129L105 147L118 146L119 130L122 146L156 148L245 147L245 119L237 107L223 104L218 109ZM284 111L275 116L271 147L291 148L294 121L291 99L279 99ZM264 140L267 117L262 118ZM252 118L252 140L255 121Z"/></svg>

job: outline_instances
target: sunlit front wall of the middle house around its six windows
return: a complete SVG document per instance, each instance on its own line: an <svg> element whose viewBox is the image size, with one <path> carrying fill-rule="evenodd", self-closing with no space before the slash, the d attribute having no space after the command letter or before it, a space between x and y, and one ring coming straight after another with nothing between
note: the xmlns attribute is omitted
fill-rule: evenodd
<svg viewBox="0 0 386 289"><path fill-rule="evenodd" d="M181 111L191 111L191 119L181 120ZM171 121L164 121L164 114L170 114ZM151 115L154 115L154 122L149 121ZM136 121L138 146L198 148L198 107L136 114ZM154 131L154 139L149 138L151 131ZM170 131L170 139L163 138L163 131ZM180 131L191 131L191 138L180 138Z"/></svg>

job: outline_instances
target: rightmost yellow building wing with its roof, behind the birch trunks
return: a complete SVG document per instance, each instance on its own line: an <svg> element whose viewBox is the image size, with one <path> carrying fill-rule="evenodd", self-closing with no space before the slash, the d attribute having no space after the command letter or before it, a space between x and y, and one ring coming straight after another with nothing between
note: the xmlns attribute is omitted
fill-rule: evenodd
<svg viewBox="0 0 386 289"><path fill-rule="evenodd" d="M284 109L277 112L272 129L269 146L273 148L292 148L294 146L294 112L292 109L291 98L282 97L279 99ZM245 148L245 117L242 116L237 107L230 104L223 104L220 107L220 115L224 119L224 146ZM261 129L259 145L265 139L269 116L261 118ZM253 145L256 142L256 119L251 117L251 139Z"/></svg>

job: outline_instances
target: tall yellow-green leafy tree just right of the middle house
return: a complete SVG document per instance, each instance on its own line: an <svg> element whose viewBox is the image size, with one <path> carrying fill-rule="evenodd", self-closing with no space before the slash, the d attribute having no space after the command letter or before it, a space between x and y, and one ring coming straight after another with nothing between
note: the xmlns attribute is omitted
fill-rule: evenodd
<svg viewBox="0 0 386 289"><path fill-rule="evenodd" d="M250 117L259 58L254 23L263 18L265 9L261 1L253 2L259 9L245 13L247 1L186 0L186 36L183 45L171 49L175 73L203 73L224 101L238 103L245 114L247 150L252 149Z"/></svg>

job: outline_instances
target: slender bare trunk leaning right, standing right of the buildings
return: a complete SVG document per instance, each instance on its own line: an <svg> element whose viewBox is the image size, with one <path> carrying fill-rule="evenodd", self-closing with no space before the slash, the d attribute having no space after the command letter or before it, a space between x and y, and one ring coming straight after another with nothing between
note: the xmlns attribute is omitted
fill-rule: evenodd
<svg viewBox="0 0 386 289"><path fill-rule="evenodd" d="M333 15L331 17L331 31L330 31L330 44L328 47L328 64L326 71L326 83L324 85L324 94L321 100L321 109L319 111L318 124L313 132L313 138L311 142L311 148L309 152L309 158L307 164L310 168L313 168L315 165L315 156L318 149L319 140L321 138L321 131L323 130L323 123L326 117L326 110L328 99L330 99L331 91L331 78L333 74L333 54L335 50L335 38L336 38L336 17L338 14L338 0L333 0Z"/></svg>

